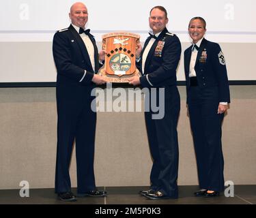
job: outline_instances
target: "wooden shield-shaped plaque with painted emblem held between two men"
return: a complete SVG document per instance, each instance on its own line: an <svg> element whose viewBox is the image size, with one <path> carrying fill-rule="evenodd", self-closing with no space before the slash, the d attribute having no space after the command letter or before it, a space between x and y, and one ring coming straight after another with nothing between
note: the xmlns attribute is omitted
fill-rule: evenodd
<svg viewBox="0 0 256 218"><path fill-rule="evenodd" d="M106 50L105 63L100 74L108 82L128 82L138 75L135 52L140 36L134 33L109 33L102 36L102 49Z"/></svg>

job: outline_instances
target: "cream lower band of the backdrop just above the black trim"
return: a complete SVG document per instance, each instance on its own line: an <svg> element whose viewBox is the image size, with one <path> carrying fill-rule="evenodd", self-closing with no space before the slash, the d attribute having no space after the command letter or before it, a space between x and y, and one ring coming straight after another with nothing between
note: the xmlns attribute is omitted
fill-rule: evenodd
<svg viewBox="0 0 256 218"><path fill-rule="evenodd" d="M101 42L97 45L100 50ZM183 53L190 45L182 42L182 55L177 67L178 80L185 80ZM225 54L229 80L256 80L253 53L256 43L220 45ZM0 42L0 82L55 82L52 46L52 42Z"/></svg>

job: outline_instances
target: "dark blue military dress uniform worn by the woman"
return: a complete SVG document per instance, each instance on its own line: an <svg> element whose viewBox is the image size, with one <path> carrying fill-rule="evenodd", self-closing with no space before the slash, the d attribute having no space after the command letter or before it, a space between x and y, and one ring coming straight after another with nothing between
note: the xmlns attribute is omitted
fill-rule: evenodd
<svg viewBox="0 0 256 218"><path fill-rule="evenodd" d="M220 102L230 102L227 68L221 47L208 40L201 41L195 63L195 78L189 78L192 46L184 52L187 104L193 132L199 186L201 189L223 191L224 159Z"/></svg>

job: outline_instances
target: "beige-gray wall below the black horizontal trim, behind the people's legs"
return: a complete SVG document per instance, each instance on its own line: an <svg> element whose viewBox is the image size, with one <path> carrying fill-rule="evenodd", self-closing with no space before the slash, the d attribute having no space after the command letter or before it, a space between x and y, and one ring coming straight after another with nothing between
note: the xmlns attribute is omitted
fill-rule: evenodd
<svg viewBox="0 0 256 218"><path fill-rule="evenodd" d="M231 105L223 123L225 180L256 184L256 86L231 86ZM197 185L195 153L185 87L181 112L179 185ZM0 189L54 187L56 155L55 88L0 89ZM98 186L149 185L152 160L143 112L99 112L95 174ZM75 151L70 168L76 187Z"/></svg>

